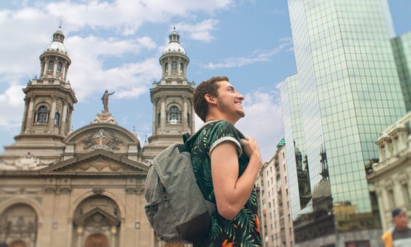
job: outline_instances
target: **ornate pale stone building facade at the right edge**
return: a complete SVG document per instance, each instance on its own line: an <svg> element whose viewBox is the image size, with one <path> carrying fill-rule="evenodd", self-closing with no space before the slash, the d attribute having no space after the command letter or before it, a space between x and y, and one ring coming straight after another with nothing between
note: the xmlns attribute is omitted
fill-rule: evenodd
<svg viewBox="0 0 411 247"><path fill-rule="evenodd" d="M411 112L380 133L380 160L367 178L374 183L383 230L393 227L391 211L401 208L411 220Z"/></svg>

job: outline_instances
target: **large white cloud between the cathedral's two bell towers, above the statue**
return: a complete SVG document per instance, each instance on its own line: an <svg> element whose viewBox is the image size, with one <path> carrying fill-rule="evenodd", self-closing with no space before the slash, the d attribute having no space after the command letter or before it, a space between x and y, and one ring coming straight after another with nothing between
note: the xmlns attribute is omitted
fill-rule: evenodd
<svg viewBox="0 0 411 247"><path fill-rule="evenodd" d="M101 39L94 36L67 38L72 65L67 74L78 100L106 89L116 90L114 98L138 98L150 83L161 76L157 57L146 58L138 63L125 63L105 68L104 61L110 56L138 54L142 49L155 49L149 37L136 40Z"/></svg>

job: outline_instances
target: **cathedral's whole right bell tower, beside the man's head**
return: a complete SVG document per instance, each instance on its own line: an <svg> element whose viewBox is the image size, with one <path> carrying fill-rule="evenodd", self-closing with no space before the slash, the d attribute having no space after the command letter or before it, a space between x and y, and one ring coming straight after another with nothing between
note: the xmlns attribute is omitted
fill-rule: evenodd
<svg viewBox="0 0 411 247"><path fill-rule="evenodd" d="M162 78L150 89L153 103L153 134L148 138L145 152L155 156L174 142L182 142L184 133L194 133L194 108L192 95L195 84L187 81L187 65L190 61L180 45L180 35L169 34L169 43L159 61ZM152 148L156 147L157 150ZM150 150L150 151L149 151Z"/></svg>

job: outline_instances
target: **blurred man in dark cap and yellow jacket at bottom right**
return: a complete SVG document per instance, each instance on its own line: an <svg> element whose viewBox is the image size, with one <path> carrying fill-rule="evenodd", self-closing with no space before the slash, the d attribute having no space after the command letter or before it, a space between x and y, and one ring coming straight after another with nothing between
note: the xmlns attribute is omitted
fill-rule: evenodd
<svg viewBox="0 0 411 247"><path fill-rule="evenodd" d="M392 211L394 228L382 236L386 247L411 246L411 229L408 227L408 219L405 212L397 208Z"/></svg>

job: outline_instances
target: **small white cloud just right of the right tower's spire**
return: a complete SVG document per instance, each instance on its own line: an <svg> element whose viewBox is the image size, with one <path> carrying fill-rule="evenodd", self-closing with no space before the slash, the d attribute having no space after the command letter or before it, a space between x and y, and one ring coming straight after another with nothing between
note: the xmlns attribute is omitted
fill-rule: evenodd
<svg viewBox="0 0 411 247"><path fill-rule="evenodd" d="M188 33L188 37L191 39L210 42L214 39L211 32L217 28L218 22L216 19L207 19L195 24L181 22L176 24L176 26L179 32L183 35Z"/></svg>

